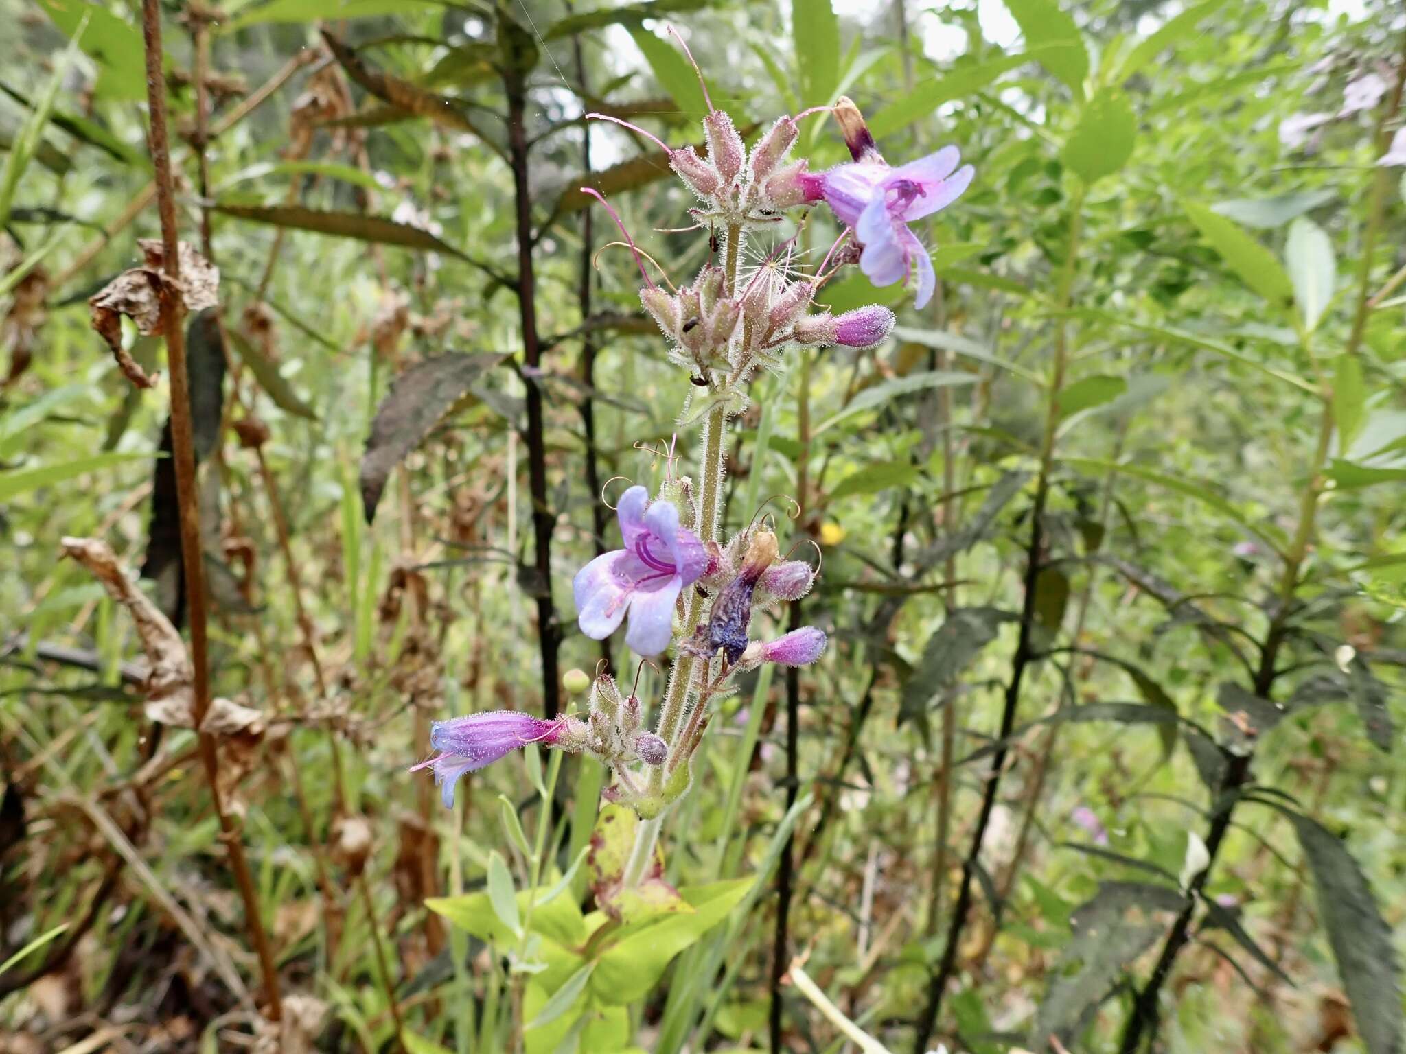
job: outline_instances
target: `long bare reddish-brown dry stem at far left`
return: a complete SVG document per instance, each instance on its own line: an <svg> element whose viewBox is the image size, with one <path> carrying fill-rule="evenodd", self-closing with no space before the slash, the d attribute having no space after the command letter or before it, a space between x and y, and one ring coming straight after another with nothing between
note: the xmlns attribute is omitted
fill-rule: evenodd
<svg viewBox="0 0 1406 1054"><path fill-rule="evenodd" d="M200 738L200 759L209 784L211 801L219 819L221 840L229 853L229 867L245 906L245 925L259 956L269 1019L283 1017L278 995L278 971L264 933L259 898L249 874L245 847L235 821L225 811L219 794L219 762L215 738L200 731L209 710L209 656L205 632L205 568L200 541L198 485L195 482L195 444L191 427L190 374L186 365L184 304L180 295L180 235L176 225L176 193L172 178L170 145L166 132L166 74L162 67L162 21L157 0L142 0L142 35L146 51L146 100L150 114L149 146L156 170L156 204L162 222L162 268L167 281L160 285L162 323L166 332L166 356L172 386L172 454L176 460L176 493L180 512L181 561L190 600L190 659L194 670L193 724Z"/></svg>

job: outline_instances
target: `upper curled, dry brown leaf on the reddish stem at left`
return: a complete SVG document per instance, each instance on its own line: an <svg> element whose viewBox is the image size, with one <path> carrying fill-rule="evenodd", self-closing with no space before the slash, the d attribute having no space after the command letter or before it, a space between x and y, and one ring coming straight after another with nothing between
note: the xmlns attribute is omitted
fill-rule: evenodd
<svg viewBox="0 0 1406 1054"><path fill-rule="evenodd" d="M163 246L155 238L138 239L146 263L122 271L89 298L93 329L117 358L122 374L138 388L152 388L156 378L146 374L122 347L122 315L136 323L142 336L162 330L162 284L170 281L163 263ZM180 280L176 282L187 311L214 308L219 291L219 268L214 267L186 242L180 243Z"/></svg>

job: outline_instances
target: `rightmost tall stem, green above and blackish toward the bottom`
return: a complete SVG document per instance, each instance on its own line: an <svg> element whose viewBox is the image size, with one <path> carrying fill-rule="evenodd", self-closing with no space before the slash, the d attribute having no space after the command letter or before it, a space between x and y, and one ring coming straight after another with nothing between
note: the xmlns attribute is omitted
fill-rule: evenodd
<svg viewBox="0 0 1406 1054"><path fill-rule="evenodd" d="M1403 37L1403 59L1406 59L1406 37ZM1382 112L1376 124L1376 136L1374 142L1378 156L1386 152L1389 142L1389 122L1395 117L1396 111L1400 110L1403 89L1406 89L1406 60L1399 60L1396 83L1392 87L1386 105L1382 107ZM1382 221L1386 215L1386 195L1389 193L1389 181L1381 178L1382 171L1384 170L1381 167L1376 169L1378 178L1372 186L1367 228L1362 230L1362 266L1358 271L1358 302L1353 330L1348 336L1347 347L1344 349L1344 354L1347 356L1355 356L1358 353L1362 334L1367 332L1367 316L1369 313L1368 301L1371 299L1372 292L1372 263L1375 257L1376 236L1381 232ZM1309 361L1313 361L1313 356L1309 354L1306 333L1301 333L1301 341L1303 344L1305 356ZM1329 450L1333 443L1333 392L1326 385L1320 385L1320 388L1323 389L1323 408L1319 416L1317 445L1315 447L1313 458L1309 462L1308 482L1303 486L1303 493L1299 496L1298 526L1294 531L1294 540L1289 542L1289 551L1285 554L1284 559L1284 578L1279 582L1278 610L1274 613L1274 617L1265 630L1264 645L1260 649L1260 668L1256 672L1254 684L1251 686L1254 694L1261 698L1270 698L1270 693L1274 689L1274 680L1278 676L1277 659L1279 646L1284 644L1288 631L1288 620L1294 613L1294 597L1299 587L1299 573L1303 568L1303 561L1308 557L1309 542L1313 540L1319 497L1323 493L1324 483L1323 465L1327 462ZM1211 878L1211 870L1216 864L1220 846L1225 842L1226 832L1230 829L1230 819L1234 814L1234 805L1239 798L1240 788L1250 777L1250 765L1253 760L1253 750L1244 755L1232 755L1229 759L1226 773L1220 780L1220 787L1213 797L1213 801L1218 802L1219 807L1216 814L1212 816L1211 828L1206 832L1206 866L1191 880L1191 887L1187 891L1189 894L1187 906L1173 923L1171 932L1167 935L1167 942L1161 947L1161 954L1157 957L1157 965L1153 967L1152 975L1147 978L1147 984L1133 999L1132 1012L1128 1015L1128 1023L1123 1026L1123 1039L1119 1044L1121 1054L1136 1054L1136 1051L1142 1050L1143 1032L1147 1032L1149 1043L1156 1043L1157 1040L1157 1026L1161 1022L1161 987L1171 975L1171 967L1177 954L1191 940L1191 922L1197 911L1197 901Z"/></svg>

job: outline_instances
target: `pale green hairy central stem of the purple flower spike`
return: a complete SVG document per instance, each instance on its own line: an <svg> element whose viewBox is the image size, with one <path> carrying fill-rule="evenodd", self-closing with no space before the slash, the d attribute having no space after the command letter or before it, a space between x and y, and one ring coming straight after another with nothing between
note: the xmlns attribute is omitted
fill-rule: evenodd
<svg viewBox="0 0 1406 1054"><path fill-rule="evenodd" d="M744 232L740 226L727 229L727 245L724 247L727 289L737 288L737 271L742 263ZM703 419L703 455L699 461L699 519L693 524L695 533L704 542L718 540L718 526L723 510L723 468L724 453L727 450L727 412L721 403L709 410ZM699 607L702 597L696 589L689 589L683 594L683 634L692 634L699 624ZM669 745L669 756L664 765L655 766L650 772L650 794L659 794L664 790L665 776L679 765L688 765L689 731L693 722L685 722L690 715L689 700L695 696L695 668L697 662L692 655L685 655L675 649L673 669L669 673L669 687L664 693L664 704L659 708L658 735ZM707 676L704 670L702 676ZM702 694L695 701L695 707L702 707ZM692 714L702 717L702 714ZM640 821L636 828L634 846L624 867L624 888L630 890L640 884L654 859L654 847L659 840L659 828L664 816L657 815Z"/></svg>

